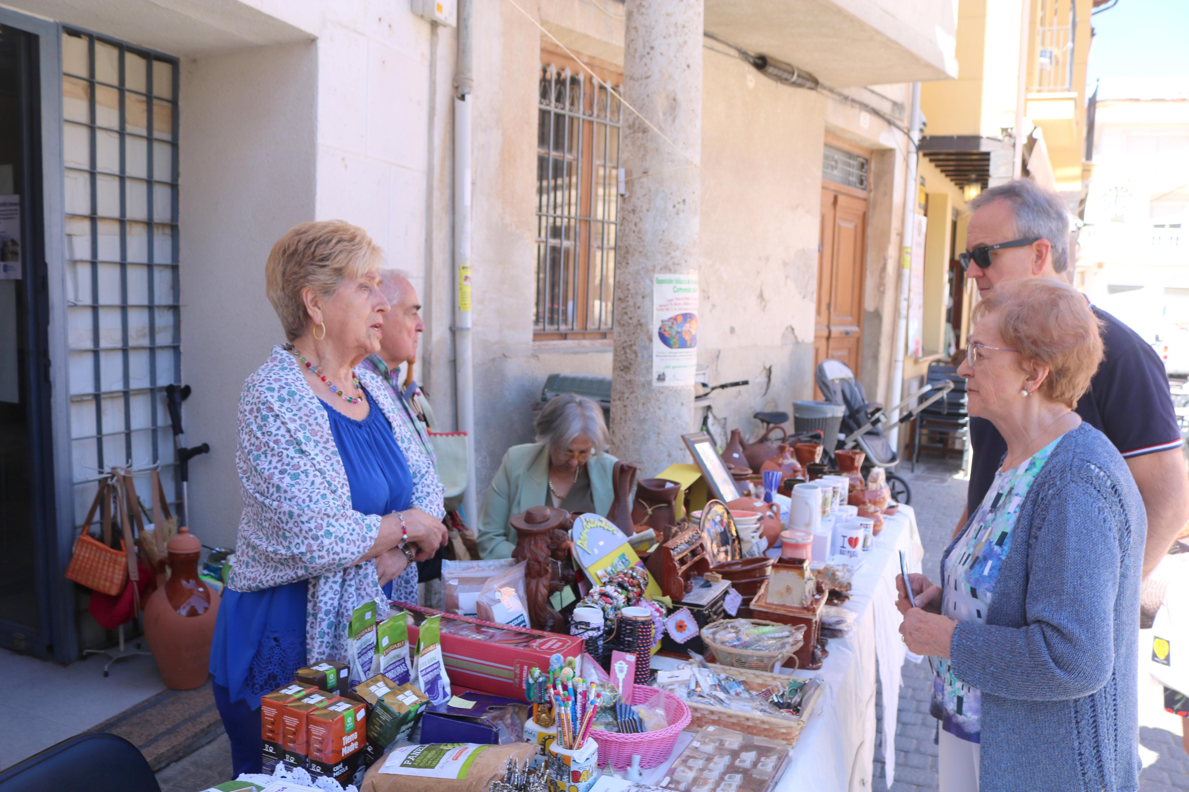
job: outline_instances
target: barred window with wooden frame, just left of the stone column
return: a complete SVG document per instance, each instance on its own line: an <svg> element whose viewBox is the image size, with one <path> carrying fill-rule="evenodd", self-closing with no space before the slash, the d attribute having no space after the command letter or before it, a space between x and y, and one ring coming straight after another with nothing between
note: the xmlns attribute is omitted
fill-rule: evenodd
<svg viewBox="0 0 1189 792"><path fill-rule="evenodd" d="M612 329L622 76L542 52L536 154L537 340ZM606 83L614 85L609 90Z"/></svg>

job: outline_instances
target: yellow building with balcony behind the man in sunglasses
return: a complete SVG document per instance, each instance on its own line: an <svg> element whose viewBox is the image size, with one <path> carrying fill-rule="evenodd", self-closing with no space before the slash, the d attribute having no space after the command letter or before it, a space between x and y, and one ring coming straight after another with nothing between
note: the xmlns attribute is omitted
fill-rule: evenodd
<svg viewBox="0 0 1189 792"><path fill-rule="evenodd" d="M974 296L956 253L967 201L1019 176L1086 204L1086 66L1102 0L960 0L957 80L921 84L924 255L910 306L908 388L965 343ZM914 329L919 330L914 332Z"/></svg>

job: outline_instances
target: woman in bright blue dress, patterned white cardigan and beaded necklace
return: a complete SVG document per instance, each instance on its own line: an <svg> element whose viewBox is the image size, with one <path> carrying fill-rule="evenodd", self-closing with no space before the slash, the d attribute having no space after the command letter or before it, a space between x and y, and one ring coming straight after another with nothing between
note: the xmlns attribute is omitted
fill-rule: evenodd
<svg viewBox="0 0 1189 792"><path fill-rule="evenodd" d="M288 343L239 398L244 513L210 648L234 774L260 772L260 696L346 660L351 612L416 602L416 564L446 543L442 486L383 382L383 252L342 221L294 226L265 264ZM395 585L394 585L395 582Z"/></svg>

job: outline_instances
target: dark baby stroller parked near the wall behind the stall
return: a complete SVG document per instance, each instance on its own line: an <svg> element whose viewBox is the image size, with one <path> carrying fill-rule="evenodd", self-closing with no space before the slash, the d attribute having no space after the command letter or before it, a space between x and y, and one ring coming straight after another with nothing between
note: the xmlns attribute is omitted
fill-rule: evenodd
<svg viewBox="0 0 1189 792"><path fill-rule="evenodd" d="M853 449L857 446L867 455L862 470L864 477L872 467L877 465L887 469L892 499L898 503L908 503L912 499L908 482L891 473L891 468L900 463L900 456L888 443L888 438L880 426L889 420L895 420L899 424L908 423L921 410L954 389L954 382L945 380L930 385L910 394L907 399L892 410L885 410L882 404L867 401L863 386L855 379L855 373L850 370L850 367L841 360L832 357L823 360L818 365L814 380L826 401L841 405L845 410L838 432L838 448ZM908 405L913 406L908 407ZM893 417L895 413L899 413L898 418Z"/></svg>

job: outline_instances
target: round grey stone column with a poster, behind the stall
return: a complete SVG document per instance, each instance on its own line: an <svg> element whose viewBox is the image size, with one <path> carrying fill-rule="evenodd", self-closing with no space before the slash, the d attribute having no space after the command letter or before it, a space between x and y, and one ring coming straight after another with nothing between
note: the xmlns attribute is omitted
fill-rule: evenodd
<svg viewBox="0 0 1189 792"><path fill-rule="evenodd" d="M693 386L653 382L653 284L697 274L702 256L702 32L703 0L627 0L623 96L672 141L624 109L611 451L642 476L692 461Z"/></svg>

